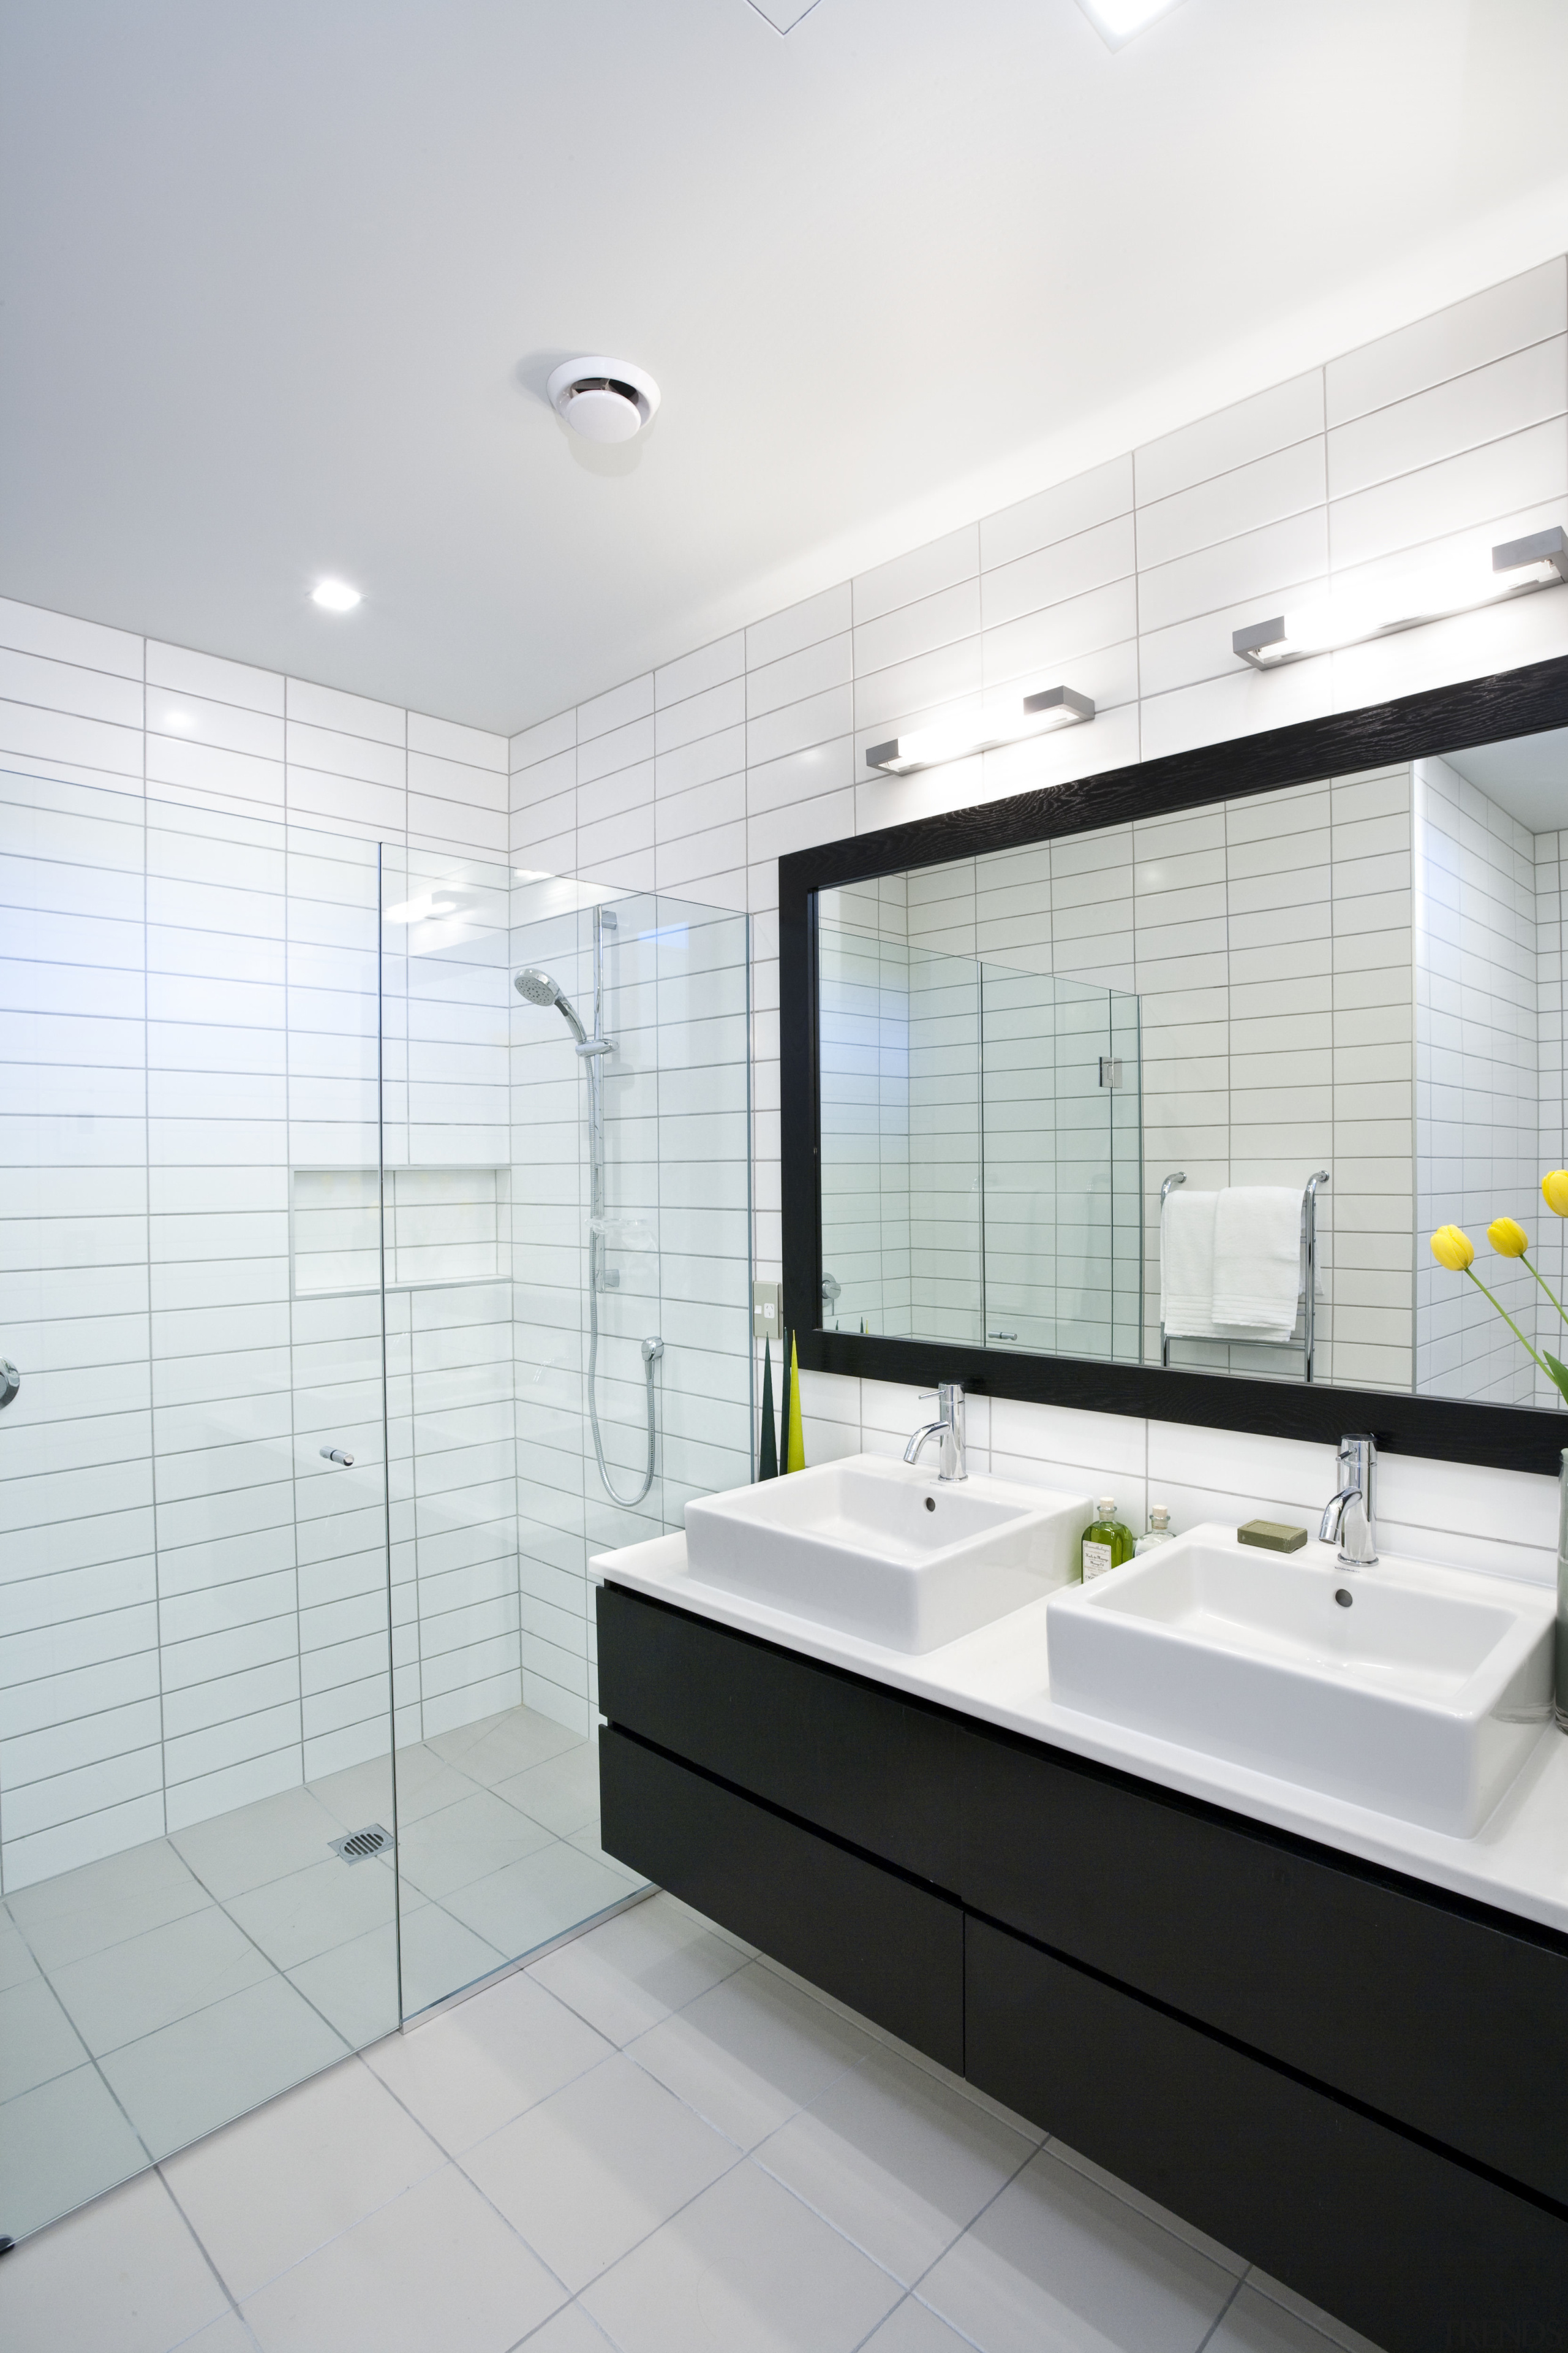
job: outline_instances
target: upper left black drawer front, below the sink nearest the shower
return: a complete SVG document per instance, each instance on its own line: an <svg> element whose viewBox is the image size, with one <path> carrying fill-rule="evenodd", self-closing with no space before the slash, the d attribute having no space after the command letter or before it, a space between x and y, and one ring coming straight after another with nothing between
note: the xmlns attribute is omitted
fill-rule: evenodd
<svg viewBox="0 0 1568 2353"><path fill-rule="evenodd" d="M959 1878L964 1732L893 1692L599 1586L599 1708L936 1887Z"/></svg>

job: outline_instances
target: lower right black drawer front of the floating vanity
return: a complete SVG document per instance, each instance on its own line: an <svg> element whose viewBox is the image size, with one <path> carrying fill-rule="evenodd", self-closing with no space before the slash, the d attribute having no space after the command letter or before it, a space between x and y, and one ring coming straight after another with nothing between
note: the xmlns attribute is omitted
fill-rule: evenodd
<svg viewBox="0 0 1568 2353"><path fill-rule="evenodd" d="M985 1920L966 1929L983 2092L1387 2353L1559 2341L1566 2221Z"/></svg>

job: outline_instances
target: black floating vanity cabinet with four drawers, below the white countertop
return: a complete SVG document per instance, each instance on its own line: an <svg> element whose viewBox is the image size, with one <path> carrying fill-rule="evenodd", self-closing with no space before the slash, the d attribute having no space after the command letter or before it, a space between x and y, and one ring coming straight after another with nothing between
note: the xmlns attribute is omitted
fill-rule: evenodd
<svg viewBox="0 0 1568 2353"><path fill-rule="evenodd" d="M1568 1937L616 1584L599 1706L623 1864L1387 2353L1568 2348Z"/></svg>

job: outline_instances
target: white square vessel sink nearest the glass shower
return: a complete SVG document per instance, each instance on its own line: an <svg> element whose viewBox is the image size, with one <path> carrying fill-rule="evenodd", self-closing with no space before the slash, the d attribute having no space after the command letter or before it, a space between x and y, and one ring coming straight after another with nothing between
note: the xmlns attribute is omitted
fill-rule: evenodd
<svg viewBox="0 0 1568 2353"><path fill-rule="evenodd" d="M851 1454L686 1504L686 1567L886 1649L938 1649L1079 1574L1088 1497Z"/></svg>

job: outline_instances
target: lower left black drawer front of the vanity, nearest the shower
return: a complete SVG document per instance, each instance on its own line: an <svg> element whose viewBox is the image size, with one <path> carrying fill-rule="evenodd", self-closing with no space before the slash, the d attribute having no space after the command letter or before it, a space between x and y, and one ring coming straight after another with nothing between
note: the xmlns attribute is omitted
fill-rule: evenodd
<svg viewBox="0 0 1568 2353"><path fill-rule="evenodd" d="M599 1800L607 1854L961 2071L964 1915L950 1897L614 1729L599 1734Z"/></svg>

